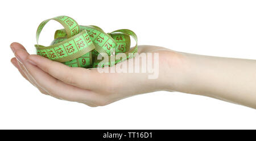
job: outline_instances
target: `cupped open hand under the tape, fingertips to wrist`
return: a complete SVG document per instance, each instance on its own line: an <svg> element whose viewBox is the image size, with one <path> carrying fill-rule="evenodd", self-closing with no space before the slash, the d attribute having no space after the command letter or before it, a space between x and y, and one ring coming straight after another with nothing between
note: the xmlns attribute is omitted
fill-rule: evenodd
<svg viewBox="0 0 256 141"><path fill-rule="evenodd" d="M156 79L148 79L150 73L100 73L97 69L71 68L39 55L29 55L19 43L12 43L11 49L18 59L14 57L11 63L41 93L92 107L136 94L175 90L175 81L180 81L176 72L183 68L182 53L151 45L139 45L138 53L139 56L147 52L159 53L159 76ZM117 65L113 67L117 68ZM141 65L140 69L143 67Z"/></svg>

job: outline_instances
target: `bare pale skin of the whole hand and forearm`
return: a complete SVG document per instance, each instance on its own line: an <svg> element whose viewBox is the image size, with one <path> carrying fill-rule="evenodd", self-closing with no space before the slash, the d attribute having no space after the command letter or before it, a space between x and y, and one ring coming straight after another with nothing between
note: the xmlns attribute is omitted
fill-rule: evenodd
<svg viewBox="0 0 256 141"><path fill-rule="evenodd" d="M167 90L256 108L256 60L193 55L139 45L139 54L159 53L159 77L150 80L149 73L99 73L97 69L71 68L29 55L19 43L10 46L15 54L11 63L20 74L41 93L55 98L96 107L137 94Z"/></svg>

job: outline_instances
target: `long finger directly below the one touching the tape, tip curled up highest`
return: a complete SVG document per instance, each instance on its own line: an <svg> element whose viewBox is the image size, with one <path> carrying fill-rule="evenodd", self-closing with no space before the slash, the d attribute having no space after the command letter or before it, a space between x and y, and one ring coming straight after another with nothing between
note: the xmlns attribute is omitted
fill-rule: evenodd
<svg viewBox="0 0 256 141"><path fill-rule="evenodd" d="M46 90L51 96L68 101L78 101L83 103L90 103L95 100L95 95L89 90L83 90L72 85L65 84L60 80L50 76L42 69L27 61L28 53L23 50L17 50L15 56L22 62L25 69L34 78L36 84ZM59 70L59 69L57 69Z"/></svg>

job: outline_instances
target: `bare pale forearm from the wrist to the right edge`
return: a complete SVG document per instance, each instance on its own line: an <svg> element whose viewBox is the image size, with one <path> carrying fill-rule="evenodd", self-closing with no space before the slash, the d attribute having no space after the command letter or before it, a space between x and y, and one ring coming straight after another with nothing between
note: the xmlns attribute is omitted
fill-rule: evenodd
<svg viewBox="0 0 256 141"><path fill-rule="evenodd" d="M182 82L172 89L256 108L256 60L182 56L183 67L177 72Z"/></svg>

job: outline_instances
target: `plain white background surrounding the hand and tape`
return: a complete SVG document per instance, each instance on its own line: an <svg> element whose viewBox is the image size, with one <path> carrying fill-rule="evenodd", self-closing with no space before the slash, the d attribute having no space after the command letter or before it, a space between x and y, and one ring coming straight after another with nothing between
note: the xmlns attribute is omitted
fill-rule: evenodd
<svg viewBox="0 0 256 141"><path fill-rule="evenodd" d="M36 28L68 15L111 32L133 30L139 44L202 55L256 59L255 1L1 1L0 128L234 129L255 128L256 111L177 92L134 96L104 107L44 96L10 63L12 42L35 53ZM48 45L57 22L40 36Z"/></svg>

